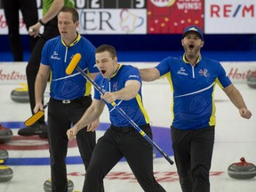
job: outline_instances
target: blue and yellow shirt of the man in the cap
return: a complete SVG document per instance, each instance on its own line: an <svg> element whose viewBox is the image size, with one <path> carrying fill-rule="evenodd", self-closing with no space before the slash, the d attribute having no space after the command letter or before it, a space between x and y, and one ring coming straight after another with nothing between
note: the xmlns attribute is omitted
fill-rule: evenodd
<svg viewBox="0 0 256 192"><path fill-rule="evenodd" d="M193 67L185 56L168 57L156 68L171 84L173 127L193 130L215 125L214 87L231 84L220 62L199 57Z"/></svg>

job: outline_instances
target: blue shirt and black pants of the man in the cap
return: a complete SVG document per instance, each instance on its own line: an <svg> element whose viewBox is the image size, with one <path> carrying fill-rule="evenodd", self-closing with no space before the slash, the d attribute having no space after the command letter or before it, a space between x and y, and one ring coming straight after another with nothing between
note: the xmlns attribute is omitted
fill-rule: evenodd
<svg viewBox="0 0 256 192"><path fill-rule="evenodd" d="M215 135L214 88L231 84L220 62L199 56L193 66L168 57L156 68L171 85L172 148L182 191L209 192ZM192 179L193 178L193 179Z"/></svg>

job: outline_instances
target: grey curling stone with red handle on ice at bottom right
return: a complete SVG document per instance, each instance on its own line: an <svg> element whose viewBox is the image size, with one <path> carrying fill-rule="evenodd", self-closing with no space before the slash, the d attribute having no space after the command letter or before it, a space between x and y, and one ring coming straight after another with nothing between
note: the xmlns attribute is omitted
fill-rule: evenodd
<svg viewBox="0 0 256 192"><path fill-rule="evenodd" d="M228 175L237 180L252 179L256 176L256 166L247 163L244 157L240 158L239 163L230 164L228 166Z"/></svg>

